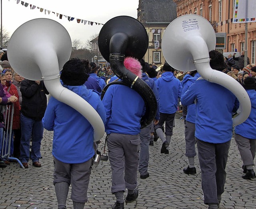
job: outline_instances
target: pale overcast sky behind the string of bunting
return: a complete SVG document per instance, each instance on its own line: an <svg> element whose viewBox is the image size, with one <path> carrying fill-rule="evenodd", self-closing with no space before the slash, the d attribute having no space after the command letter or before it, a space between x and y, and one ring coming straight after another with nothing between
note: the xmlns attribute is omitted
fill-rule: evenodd
<svg viewBox="0 0 256 209"><path fill-rule="evenodd" d="M25 0L28 6L22 6L19 0L2 0L2 26L11 36L13 32L23 23L36 18L49 18L62 24L68 31L71 39L80 39L85 43L91 35L98 34L102 25L116 16L131 16L137 18L138 0ZM40 12L39 9L30 9L30 4L51 11ZM57 17L56 12L62 14L62 19ZM68 21L64 15L74 17ZM77 20L87 20L94 24L84 25L77 23Z"/></svg>

